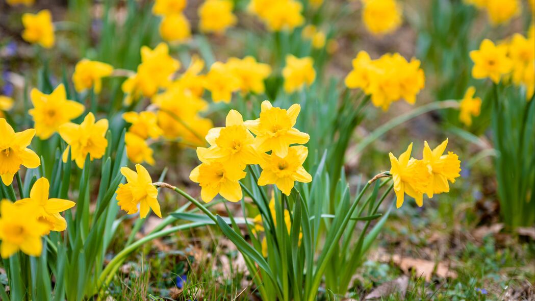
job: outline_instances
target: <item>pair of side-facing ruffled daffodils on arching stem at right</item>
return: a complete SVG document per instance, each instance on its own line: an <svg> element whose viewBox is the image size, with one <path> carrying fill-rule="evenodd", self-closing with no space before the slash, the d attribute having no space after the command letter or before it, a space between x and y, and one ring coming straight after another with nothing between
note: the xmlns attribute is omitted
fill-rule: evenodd
<svg viewBox="0 0 535 301"><path fill-rule="evenodd" d="M431 150L425 141L422 160L411 157L412 143L398 158L389 153L396 207L403 205L404 194L414 198L416 204L422 207L424 193L432 198L434 194L449 192L448 181L455 183L455 178L460 176L461 161L453 152L444 155L447 145L448 139Z"/></svg>

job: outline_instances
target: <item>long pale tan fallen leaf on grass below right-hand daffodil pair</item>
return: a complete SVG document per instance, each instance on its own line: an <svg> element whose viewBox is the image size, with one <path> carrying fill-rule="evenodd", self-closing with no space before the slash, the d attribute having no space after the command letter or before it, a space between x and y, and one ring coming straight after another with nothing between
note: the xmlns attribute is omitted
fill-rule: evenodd
<svg viewBox="0 0 535 301"><path fill-rule="evenodd" d="M417 277L424 277L425 281L431 281L431 276L436 274L441 278L457 278L457 273L450 270L448 265L444 262L438 262L435 264L433 261L410 258L410 257L401 257L398 254L392 256L392 261L394 264L398 265L404 273L409 274L411 269L414 269ZM436 270L435 270L436 266Z"/></svg>

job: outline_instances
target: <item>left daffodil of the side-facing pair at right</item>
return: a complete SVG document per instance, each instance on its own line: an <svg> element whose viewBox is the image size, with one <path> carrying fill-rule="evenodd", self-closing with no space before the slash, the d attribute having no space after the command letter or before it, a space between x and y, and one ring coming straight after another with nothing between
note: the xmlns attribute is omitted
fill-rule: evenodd
<svg viewBox="0 0 535 301"><path fill-rule="evenodd" d="M424 204L423 193L431 180L431 168L422 160L410 157L412 143L403 154L396 158L389 153L392 167L390 173L394 180L394 192L396 193L396 207L403 205L404 194L415 199L416 204L422 207Z"/></svg>

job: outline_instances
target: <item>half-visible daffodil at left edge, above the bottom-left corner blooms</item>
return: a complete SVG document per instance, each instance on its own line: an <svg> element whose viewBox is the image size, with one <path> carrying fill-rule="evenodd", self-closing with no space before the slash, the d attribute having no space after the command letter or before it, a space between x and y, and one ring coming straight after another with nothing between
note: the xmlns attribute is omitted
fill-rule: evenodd
<svg viewBox="0 0 535 301"><path fill-rule="evenodd" d="M0 177L6 186L11 185L20 165L36 168L41 164L39 156L28 148L34 135L34 129L16 133L4 118L0 118Z"/></svg>

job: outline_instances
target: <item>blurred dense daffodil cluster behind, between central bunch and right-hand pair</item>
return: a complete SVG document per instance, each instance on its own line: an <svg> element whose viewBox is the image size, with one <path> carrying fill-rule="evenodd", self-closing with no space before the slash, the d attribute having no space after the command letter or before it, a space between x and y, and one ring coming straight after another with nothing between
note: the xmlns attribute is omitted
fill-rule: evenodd
<svg viewBox="0 0 535 301"><path fill-rule="evenodd" d="M392 102L401 99L414 104L424 88L425 76L418 59L409 62L398 53L371 59L368 52L360 51L345 82L348 88L360 88L371 95L373 105L386 111Z"/></svg>

